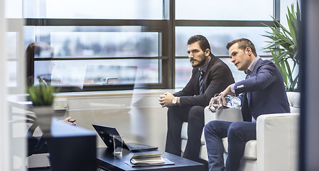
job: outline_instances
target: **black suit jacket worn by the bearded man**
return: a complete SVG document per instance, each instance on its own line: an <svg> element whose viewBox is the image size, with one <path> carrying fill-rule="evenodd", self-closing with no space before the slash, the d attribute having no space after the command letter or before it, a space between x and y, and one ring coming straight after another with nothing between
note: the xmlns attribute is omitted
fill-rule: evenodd
<svg viewBox="0 0 319 171"><path fill-rule="evenodd" d="M198 67L193 68L192 77L183 90L175 93L174 95L180 97L180 106L190 107L193 105L201 105L205 107L210 103L210 99L215 93L220 93L227 86L234 83L232 72L228 66L215 56L210 57L207 70L203 80L203 90L205 93L200 94L199 78L200 71Z"/></svg>

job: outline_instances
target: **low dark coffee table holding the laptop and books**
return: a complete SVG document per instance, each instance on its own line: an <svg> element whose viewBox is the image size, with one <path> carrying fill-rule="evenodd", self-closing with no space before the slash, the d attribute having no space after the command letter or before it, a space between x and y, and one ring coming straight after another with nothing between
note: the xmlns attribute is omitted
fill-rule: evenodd
<svg viewBox="0 0 319 171"><path fill-rule="evenodd" d="M162 152L160 150L154 150L152 152ZM97 167L103 170L152 170L152 171L193 171L193 170L204 170L204 165L200 162L194 162L192 160L185 159L183 157L178 157L177 155L172 155L168 152L163 152L163 158L175 162L175 165L158 165L158 166L141 166L141 167L131 167L125 162L129 161L133 155L139 154L141 152L130 152L129 150L123 150L122 157L114 157L112 150L107 147L97 148Z"/></svg>

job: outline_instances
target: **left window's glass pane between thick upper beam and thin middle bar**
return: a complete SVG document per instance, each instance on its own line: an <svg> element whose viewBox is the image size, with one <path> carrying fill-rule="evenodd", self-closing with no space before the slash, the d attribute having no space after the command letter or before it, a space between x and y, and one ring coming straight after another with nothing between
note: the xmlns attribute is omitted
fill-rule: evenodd
<svg viewBox="0 0 319 171"><path fill-rule="evenodd" d="M34 40L53 46L55 58L159 56L159 33L140 26L26 26L26 44Z"/></svg>

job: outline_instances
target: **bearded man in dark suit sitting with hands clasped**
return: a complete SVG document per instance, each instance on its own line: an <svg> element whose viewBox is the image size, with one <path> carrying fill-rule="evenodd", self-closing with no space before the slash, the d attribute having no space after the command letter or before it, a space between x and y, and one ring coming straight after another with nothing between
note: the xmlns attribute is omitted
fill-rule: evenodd
<svg viewBox="0 0 319 171"><path fill-rule="evenodd" d="M228 66L212 55L210 43L204 36L188 39L188 54L193 66L190 81L178 93L166 92L158 100L162 107L169 107L166 152L181 155L181 128L183 122L188 122L188 142L183 157L200 162L204 108L215 93L234 83L234 78Z"/></svg>

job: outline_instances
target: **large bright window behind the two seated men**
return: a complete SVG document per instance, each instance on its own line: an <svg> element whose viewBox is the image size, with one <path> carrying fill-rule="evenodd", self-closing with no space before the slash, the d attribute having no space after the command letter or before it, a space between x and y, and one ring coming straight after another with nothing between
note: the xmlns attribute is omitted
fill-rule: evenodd
<svg viewBox="0 0 319 171"><path fill-rule="evenodd" d="M273 24L271 16L278 12L274 11L275 4L274 0L175 0L175 88L183 88L190 79L192 68L186 43L195 34L208 39L212 53L229 66L235 81L244 79L245 74L229 58L226 49L229 41L249 38L257 54L269 58L271 54L262 49L267 38L261 35L270 31L263 24Z"/></svg>

